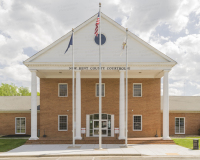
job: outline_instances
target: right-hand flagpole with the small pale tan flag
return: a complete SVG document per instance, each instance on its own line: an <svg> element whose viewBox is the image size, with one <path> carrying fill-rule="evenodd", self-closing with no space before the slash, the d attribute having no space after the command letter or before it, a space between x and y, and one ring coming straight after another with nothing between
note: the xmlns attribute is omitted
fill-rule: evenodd
<svg viewBox="0 0 200 160"><path fill-rule="evenodd" d="M128 42L128 28L126 28L126 139L125 146L128 147L127 137L128 137L128 50L127 50L127 42Z"/></svg>

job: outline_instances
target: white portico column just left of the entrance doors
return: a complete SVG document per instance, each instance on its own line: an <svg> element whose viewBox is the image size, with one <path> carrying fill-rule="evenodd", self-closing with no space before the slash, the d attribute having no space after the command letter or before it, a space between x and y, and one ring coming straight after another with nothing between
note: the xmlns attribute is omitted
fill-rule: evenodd
<svg viewBox="0 0 200 160"><path fill-rule="evenodd" d="M81 71L76 71L76 137L75 139L82 139L81 137Z"/></svg>

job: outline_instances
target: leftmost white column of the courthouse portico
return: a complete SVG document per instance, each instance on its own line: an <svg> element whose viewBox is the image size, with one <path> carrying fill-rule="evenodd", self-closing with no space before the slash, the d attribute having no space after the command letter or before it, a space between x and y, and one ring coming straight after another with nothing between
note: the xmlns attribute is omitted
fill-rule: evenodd
<svg viewBox="0 0 200 160"><path fill-rule="evenodd" d="M37 140L37 77L36 70L31 71L31 137L29 140Z"/></svg>

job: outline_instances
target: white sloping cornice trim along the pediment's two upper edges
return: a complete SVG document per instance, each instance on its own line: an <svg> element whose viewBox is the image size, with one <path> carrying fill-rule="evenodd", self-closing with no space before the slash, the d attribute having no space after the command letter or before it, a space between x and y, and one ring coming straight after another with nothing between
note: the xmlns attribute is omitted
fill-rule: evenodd
<svg viewBox="0 0 200 160"><path fill-rule="evenodd" d="M98 14L98 13L97 13ZM91 18L89 18L88 20L86 20L85 22L83 22L82 24L80 24L79 26L77 26L74 29L74 32L79 31L80 29L82 29L84 26L86 26L87 24L89 24L90 22L96 20L97 18L97 14L95 14L94 16L92 16ZM118 29L120 29L121 31L123 31L124 33L126 32L126 28L124 28L123 26L121 26L120 24L118 24L117 22L115 22L114 20L112 20L111 18L109 18L108 16L106 16L105 14L102 13L102 18L106 19L108 22L110 22L112 25L114 25L115 27L117 27ZM72 31L68 32L67 34L65 34L64 36L62 36L61 38L57 39L55 42L53 42L52 44L50 44L49 46L45 47L44 49L42 49L41 51L37 52L36 54L34 54L33 56L31 56L30 58L28 58L27 60L24 61L24 64L29 63L31 61L33 61L34 59L38 58L39 56L41 56L42 54L46 53L49 49L53 48L54 46L56 46L57 44L59 44L60 42L62 42L63 40L69 38L71 36ZM142 40L141 38L139 38L138 36L136 36L135 34L133 34L132 32L128 31L128 35L131 36L134 40L138 41L139 43L141 43L142 45L144 45L145 47L147 47L148 49L152 50L154 53L156 53L157 55L159 55L160 57L162 57L163 59L165 59L167 62L171 62L174 65L177 64L176 61L174 61L173 59L171 59L170 57L168 57L167 55L163 54L162 52L160 52L159 50L155 49L154 47L152 47L150 44L148 44L147 42L145 42L144 40ZM173 66L174 66L173 65Z"/></svg>

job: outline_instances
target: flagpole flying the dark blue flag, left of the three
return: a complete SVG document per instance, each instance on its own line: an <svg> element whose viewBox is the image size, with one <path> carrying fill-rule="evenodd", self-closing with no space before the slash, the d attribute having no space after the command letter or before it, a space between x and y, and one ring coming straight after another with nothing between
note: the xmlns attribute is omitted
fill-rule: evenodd
<svg viewBox="0 0 200 160"><path fill-rule="evenodd" d="M73 147L75 147L75 138L74 138L74 29L72 28L72 123L73 123Z"/></svg>

